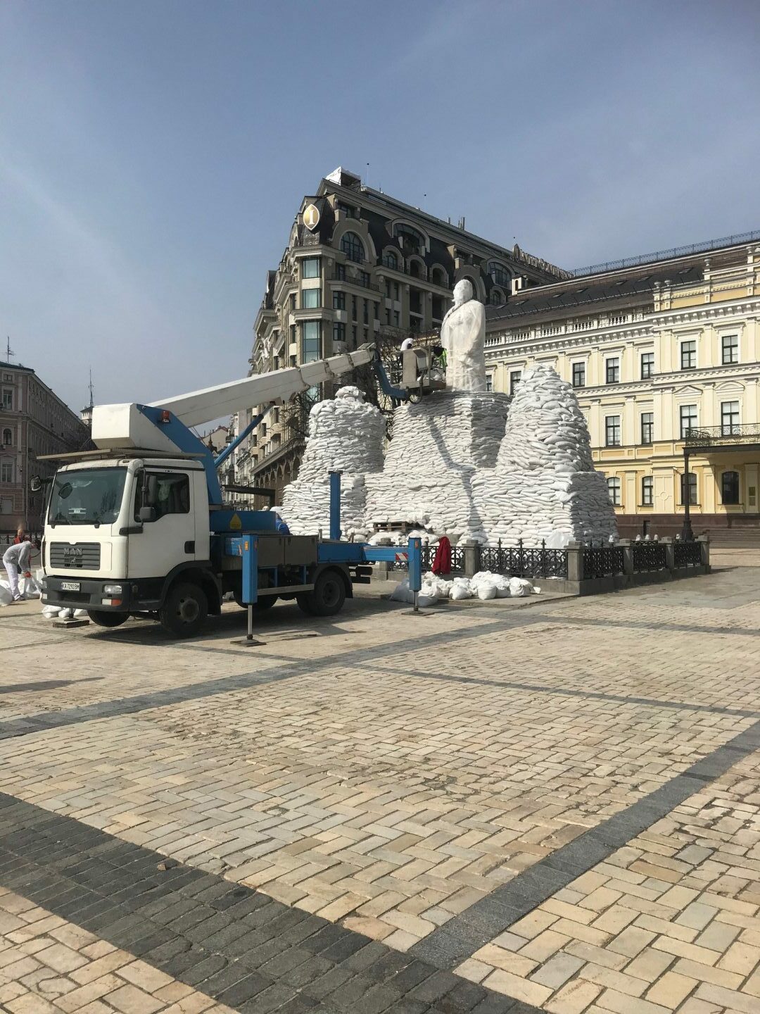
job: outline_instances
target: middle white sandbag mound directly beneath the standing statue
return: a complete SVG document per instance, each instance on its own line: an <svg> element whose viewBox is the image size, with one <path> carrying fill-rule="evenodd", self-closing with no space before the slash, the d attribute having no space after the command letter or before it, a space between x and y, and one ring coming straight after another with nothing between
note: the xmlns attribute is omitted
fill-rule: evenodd
<svg viewBox="0 0 760 1014"><path fill-rule="evenodd" d="M385 466L367 477L368 525L405 521L483 540L472 479L493 466L508 408L505 394L455 390L397 408Z"/></svg>

